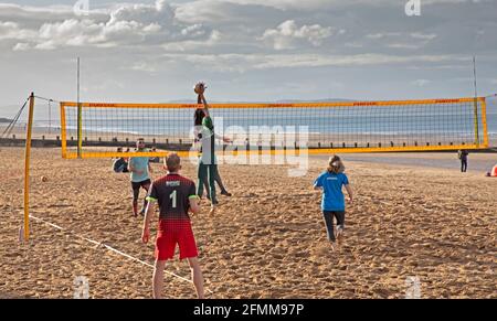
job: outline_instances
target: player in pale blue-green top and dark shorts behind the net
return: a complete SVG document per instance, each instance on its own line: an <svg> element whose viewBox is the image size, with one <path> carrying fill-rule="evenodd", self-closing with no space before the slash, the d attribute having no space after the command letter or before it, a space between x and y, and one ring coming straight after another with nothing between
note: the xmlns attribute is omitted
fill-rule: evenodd
<svg viewBox="0 0 497 321"><path fill-rule="evenodd" d="M136 142L137 152L146 152L145 140L139 138ZM150 175L152 172L148 157L133 157L128 162L128 170L131 172L131 188L133 188L133 214L138 216L138 197L140 189L144 189L147 193L150 188ZM147 200L144 200L144 206L140 210L140 215L145 214L145 207L147 206Z"/></svg>

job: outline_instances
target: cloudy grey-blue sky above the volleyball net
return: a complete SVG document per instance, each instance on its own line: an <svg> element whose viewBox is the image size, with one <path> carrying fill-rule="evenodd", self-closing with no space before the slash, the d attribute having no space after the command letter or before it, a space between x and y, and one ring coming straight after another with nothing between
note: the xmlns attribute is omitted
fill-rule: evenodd
<svg viewBox="0 0 497 321"><path fill-rule="evenodd" d="M465 97L473 55L497 93L497 0L76 2L0 2L0 108L76 99L77 56L86 101Z"/></svg>

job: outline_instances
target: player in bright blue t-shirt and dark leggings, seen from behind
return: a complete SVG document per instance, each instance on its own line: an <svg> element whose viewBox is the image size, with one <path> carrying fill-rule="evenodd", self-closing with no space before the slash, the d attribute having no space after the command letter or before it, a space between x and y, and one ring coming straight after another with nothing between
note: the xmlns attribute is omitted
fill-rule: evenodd
<svg viewBox="0 0 497 321"><path fill-rule="evenodd" d="M322 191L321 210L325 218L328 240L334 249L335 242L340 239L345 231L345 186L349 194L349 202L353 201L352 188L343 173L345 165L339 157L335 156L328 161L328 169L314 182L315 190ZM334 217L337 220L337 232L334 231Z"/></svg>

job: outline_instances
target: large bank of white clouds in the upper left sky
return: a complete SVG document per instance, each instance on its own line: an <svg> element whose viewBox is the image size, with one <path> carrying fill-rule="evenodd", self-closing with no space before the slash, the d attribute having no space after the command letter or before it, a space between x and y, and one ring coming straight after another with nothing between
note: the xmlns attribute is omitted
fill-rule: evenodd
<svg viewBox="0 0 497 321"><path fill-rule="evenodd" d="M25 18L41 10L8 6L13 15ZM55 50L66 46L162 45L166 42L209 39L213 30L202 24L188 25L175 20L166 1L155 4L120 4L107 13L99 11L82 19L63 9L45 9L55 21L29 28L22 22L0 21L0 40L22 41L13 50L33 47ZM103 19L104 15L106 19ZM73 18L67 18L73 17ZM98 19L96 18L98 17ZM62 19L63 18L63 19ZM22 21L22 19L19 19ZM59 21L57 21L59 20Z"/></svg>

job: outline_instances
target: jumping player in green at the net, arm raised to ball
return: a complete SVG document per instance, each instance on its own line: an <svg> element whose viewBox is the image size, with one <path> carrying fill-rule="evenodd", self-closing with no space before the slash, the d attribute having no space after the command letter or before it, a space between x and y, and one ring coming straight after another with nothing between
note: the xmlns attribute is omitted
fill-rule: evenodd
<svg viewBox="0 0 497 321"><path fill-rule="evenodd" d="M218 159L215 157L215 139L222 139L224 142L231 142L229 138L220 137L214 132L214 124L212 121L211 115L209 113L209 104L207 103L205 86L202 83L197 84L195 93L199 95L199 100L203 103L203 118L202 127L198 132L198 138L200 140L201 157L199 160L198 170L198 188L197 195L202 197L203 195L203 182L209 182L208 195L211 199L211 211L212 215L215 211L215 206L219 204L215 194L215 172L218 171ZM195 114L197 115L197 114ZM219 172L218 172L219 175Z"/></svg>

